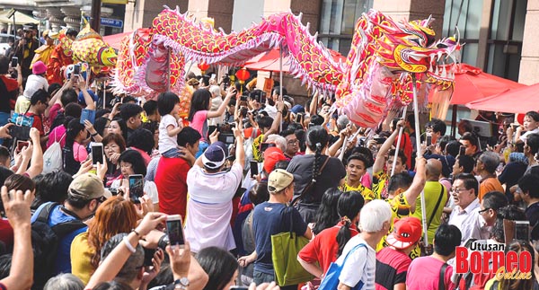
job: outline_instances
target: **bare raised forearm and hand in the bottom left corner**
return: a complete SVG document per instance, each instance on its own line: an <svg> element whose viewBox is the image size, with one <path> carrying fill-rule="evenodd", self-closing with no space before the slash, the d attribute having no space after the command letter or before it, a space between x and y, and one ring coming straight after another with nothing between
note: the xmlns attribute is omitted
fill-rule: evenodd
<svg viewBox="0 0 539 290"><path fill-rule="evenodd" d="M31 250L30 206L33 194L30 190L7 192L2 187L5 215L13 227L13 258L9 276L0 280L0 287L10 290L30 289L33 283L33 251Z"/></svg>

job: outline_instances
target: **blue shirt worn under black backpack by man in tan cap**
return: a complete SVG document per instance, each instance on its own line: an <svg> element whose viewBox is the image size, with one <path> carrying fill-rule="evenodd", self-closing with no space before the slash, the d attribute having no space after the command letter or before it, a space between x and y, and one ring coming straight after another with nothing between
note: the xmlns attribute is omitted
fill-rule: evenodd
<svg viewBox="0 0 539 290"><path fill-rule="evenodd" d="M35 220L38 218L38 215L40 215L41 210L43 210L43 207L48 205L50 202L42 204L36 212L31 215L31 223L35 222ZM52 227L57 224L66 223L69 221L76 220L75 216L67 215L63 211L60 210L60 206L54 207L50 210L49 215L49 226ZM75 236L79 233L84 233L88 229L87 226L84 226L72 233L66 234L66 236L60 241L57 248L57 260L56 260L56 267L55 267L55 275L59 273L71 273L71 242L73 242L73 239L75 239Z"/></svg>

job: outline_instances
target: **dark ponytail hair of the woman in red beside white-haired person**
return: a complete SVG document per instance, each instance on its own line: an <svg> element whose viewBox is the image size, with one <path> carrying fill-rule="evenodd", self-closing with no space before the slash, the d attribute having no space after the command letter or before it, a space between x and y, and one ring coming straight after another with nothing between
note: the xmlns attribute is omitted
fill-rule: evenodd
<svg viewBox="0 0 539 290"><path fill-rule="evenodd" d="M340 220L344 223L337 233L337 243L339 244L339 250L337 251L337 257L339 258L344 250L344 246L349 242L351 238L350 226L352 220L358 216L359 211L365 205L365 199L359 191L346 191L343 192L339 201L337 202L337 212L339 213ZM357 226L357 225L356 225Z"/></svg>

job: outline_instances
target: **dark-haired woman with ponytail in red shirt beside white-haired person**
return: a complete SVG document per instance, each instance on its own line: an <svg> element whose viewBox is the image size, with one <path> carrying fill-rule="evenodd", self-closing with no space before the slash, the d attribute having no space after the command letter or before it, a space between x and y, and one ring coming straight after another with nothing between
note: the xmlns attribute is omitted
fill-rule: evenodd
<svg viewBox="0 0 539 290"><path fill-rule="evenodd" d="M339 258L349 239L359 233L359 211L364 204L365 200L358 191L347 191L340 195L337 203L340 222L317 234L313 241L297 254L297 260L305 270L315 277L323 278L323 274L330 268L331 263Z"/></svg>

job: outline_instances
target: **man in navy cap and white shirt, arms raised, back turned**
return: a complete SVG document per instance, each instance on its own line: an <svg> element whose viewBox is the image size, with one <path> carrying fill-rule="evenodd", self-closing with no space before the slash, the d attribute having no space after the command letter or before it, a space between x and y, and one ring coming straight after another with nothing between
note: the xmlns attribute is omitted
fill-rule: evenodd
<svg viewBox="0 0 539 290"><path fill-rule="evenodd" d="M218 133L210 136L211 145L200 155L187 173L190 200L187 204L185 237L190 250L216 246L225 250L235 249L230 227L232 198L243 180L243 136L233 128L235 137L235 161L230 171L225 171L228 147L216 141Z"/></svg>

